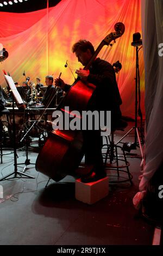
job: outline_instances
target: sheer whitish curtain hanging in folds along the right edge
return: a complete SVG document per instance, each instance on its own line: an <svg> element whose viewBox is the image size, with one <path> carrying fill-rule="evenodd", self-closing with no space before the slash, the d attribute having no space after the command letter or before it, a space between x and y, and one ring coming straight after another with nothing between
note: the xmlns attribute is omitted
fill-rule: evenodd
<svg viewBox="0 0 163 256"><path fill-rule="evenodd" d="M142 39L145 61L146 137L145 161L139 185L142 194L139 193L139 198L143 197L149 180L163 162L163 56L159 56L159 44L163 43L162 0L142 0Z"/></svg>

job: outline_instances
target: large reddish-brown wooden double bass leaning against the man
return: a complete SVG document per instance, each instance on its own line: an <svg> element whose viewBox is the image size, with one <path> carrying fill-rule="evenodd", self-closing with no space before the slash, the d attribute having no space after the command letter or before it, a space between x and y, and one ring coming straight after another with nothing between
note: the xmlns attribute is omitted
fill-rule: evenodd
<svg viewBox="0 0 163 256"><path fill-rule="evenodd" d="M84 69L90 68L104 45L112 46L111 41L115 41L123 35L125 27L122 22L116 23L114 28L115 32L108 34L102 40ZM70 112L87 110L87 105L95 89L95 85L77 78L64 98L64 105L69 107ZM60 110L64 114L65 109L61 108ZM55 129L37 156L36 170L54 181L60 181L66 175L74 175L84 153L82 131Z"/></svg>

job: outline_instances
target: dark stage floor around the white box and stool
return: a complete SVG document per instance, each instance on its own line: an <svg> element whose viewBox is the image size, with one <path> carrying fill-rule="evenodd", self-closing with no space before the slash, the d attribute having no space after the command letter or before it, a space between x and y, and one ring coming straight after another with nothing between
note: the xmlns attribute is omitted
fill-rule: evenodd
<svg viewBox="0 0 163 256"><path fill-rule="evenodd" d="M126 131L133 126L127 127ZM115 141L124 132L118 132ZM124 141L133 141L131 133ZM36 141L29 148L31 163L35 163ZM131 151L140 155L139 147ZM26 159L18 151L18 163ZM110 184L108 197L87 205L75 199L75 179L66 176L60 182L50 181L29 165L22 177L1 181L3 199L0 199L1 245L152 245L154 227L137 217L132 200L138 192L139 157L128 157L133 186L129 182ZM14 170L13 154L3 156L0 175ZM22 170L18 167L18 170ZM0 177L1 177L0 176ZM1 187L2 188L2 187Z"/></svg>

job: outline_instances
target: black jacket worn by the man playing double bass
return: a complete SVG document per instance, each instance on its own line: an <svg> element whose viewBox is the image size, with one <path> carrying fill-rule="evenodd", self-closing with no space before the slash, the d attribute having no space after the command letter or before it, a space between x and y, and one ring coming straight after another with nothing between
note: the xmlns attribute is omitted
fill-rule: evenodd
<svg viewBox="0 0 163 256"><path fill-rule="evenodd" d="M111 110L112 116L121 118L120 105L122 99L118 90L114 68L109 62L96 58L90 67L87 81L96 86L95 93L90 100L90 110ZM70 85L66 85L64 91L68 91Z"/></svg>

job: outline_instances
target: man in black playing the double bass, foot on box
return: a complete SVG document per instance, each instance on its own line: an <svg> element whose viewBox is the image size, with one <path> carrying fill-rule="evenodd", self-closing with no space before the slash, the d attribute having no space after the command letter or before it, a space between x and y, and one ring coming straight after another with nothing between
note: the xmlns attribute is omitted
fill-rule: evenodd
<svg viewBox="0 0 163 256"><path fill-rule="evenodd" d="M79 40L72 46L72 52L76 54L78 61L86 66L95 52L93 45L86 40ZM121 118L120 105L122 104L118 90L116 76L112 65L100 58L96 58L89 70L80 68L76 73L83 81L90 82L96 86L87 110L110 110L111 129ZM55 85L68 91L70 85L65 84L62 79L55 79ZM102 158L102 137L100 130L83 130L85 147L85 163L93 168L89 175L82 178L83 182L92 182L106 176Z"/></svg>

